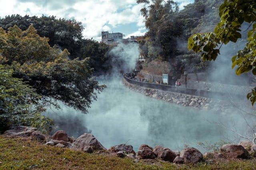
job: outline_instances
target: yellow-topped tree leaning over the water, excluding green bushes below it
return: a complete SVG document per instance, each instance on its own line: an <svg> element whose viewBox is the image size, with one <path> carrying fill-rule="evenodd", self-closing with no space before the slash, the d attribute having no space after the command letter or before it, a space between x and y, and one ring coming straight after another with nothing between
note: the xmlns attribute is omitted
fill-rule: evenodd
<svg viewBox="0 0 256 170"><path fill-rule="evenodd" d="M40 37L32 25L25 31L14 25L7 33L0 28L0 53L2 64L9 64L13 76L28 82L45 104L58 106L60 100L87 113L96 92L104 88L91 78L89 58L68 60L66 49L50 47L48 38Z"/></svg>

